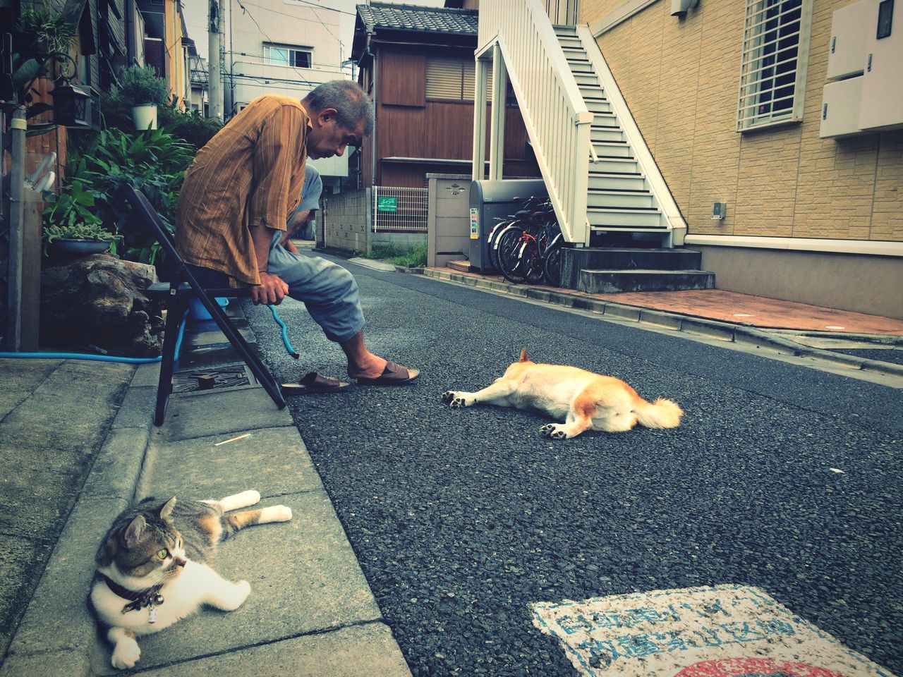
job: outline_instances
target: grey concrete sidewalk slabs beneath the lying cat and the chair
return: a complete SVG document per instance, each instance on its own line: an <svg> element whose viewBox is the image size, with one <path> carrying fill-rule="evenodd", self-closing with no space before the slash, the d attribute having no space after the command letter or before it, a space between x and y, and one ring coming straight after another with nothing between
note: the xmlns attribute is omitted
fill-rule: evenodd
<svg viewBox="0 0 903 677"><path fill-rule="evenodd" d="M244 323L243 333L253 339L238 313L237 324ZM41 367L43 362L18 364L51 369ZM237 362L212 323L187 330L181 370ZM84 372L78 383L56 389L56 410L72 424L88 404L84 388L96 379L88 372L97 374L98 363L62 365ZM248 580L250 597L236 611L204 609L139 638L141 659L132 672L410 675L290 414L275 408L253 376L239 368L228 387L173 394L166 421L155 428L151 418L159 366L103 368L116 374L134 371L134 377L112 422L98 416L84 422L86 435L106 438L80 493L78 478L70 483L70 496L78 500L68 519L61 515L65 527L0 675L119 672L109 663L109 647L98 637L86 605L94 554L112 520L144 496L220 498L250 488L260 492L260 505L284 504L293 511L291 522L248 529L220 546L216 569L230 580ZM249 376L247 385L235 385L240 372ZM190 385L191 376L179 383ZM6 429L8 418L7 436L16 434ZM32 425L44 430L40 421ZM42 484L42 478L34 479ZM35 505L43 500L37 496ZM22 517L27 522L27 515Z"/></svg>

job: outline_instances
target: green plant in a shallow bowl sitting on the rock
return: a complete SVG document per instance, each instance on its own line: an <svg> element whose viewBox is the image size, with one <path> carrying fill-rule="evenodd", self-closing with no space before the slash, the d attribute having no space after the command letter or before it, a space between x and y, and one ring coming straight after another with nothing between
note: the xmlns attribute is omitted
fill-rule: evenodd
<svg viewBox="0 0 903 677"><path fill-rule="evenodd" d="M116 245L123 237L109 232L89 209L94 207L94 199L94 193L84 190L81 181L71 181L60 195L51 196L43 211L44 255L101 254L107 249L116 254Z"/></svg>

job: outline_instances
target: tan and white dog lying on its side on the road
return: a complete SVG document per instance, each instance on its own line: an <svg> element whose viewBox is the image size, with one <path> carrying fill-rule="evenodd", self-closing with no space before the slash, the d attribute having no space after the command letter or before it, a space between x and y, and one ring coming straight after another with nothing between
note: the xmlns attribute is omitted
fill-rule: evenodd
<svg viewBox="0 0 903 677"><path fill-rule="evenodd" d="M450 390L442 402L452 407L495 404L547 413L563 423L546 423L539 431L563 440L584 431L623 432L637 423L647 428L676 428L684 411L659 397L648 403L614 376L593 374L576 366L541 365L526 357L509 366L505 376L476 393Z"/></svg>

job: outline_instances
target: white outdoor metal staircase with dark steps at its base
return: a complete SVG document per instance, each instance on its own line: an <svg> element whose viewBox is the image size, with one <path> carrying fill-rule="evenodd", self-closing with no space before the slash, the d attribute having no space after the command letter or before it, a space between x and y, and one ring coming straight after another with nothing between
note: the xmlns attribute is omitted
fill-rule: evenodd
<svg viewBox="0 0 903 677"><path fill-rule="evenodd" d="M511 83L569 244L562 283L585 292L706 289L686 222L589 27L554 25L540 0L480 0L474 153L484 157L487 70ZM501 179L504 106L493 90L489 179ZM482 163L473 178L483 179ZM637 252L642 255L636 255Z"/></svg>

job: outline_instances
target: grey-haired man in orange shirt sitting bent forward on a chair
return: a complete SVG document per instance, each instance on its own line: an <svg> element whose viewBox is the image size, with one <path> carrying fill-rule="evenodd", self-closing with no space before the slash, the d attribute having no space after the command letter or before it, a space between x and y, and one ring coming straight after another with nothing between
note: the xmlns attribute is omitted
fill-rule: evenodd
<svg viewBox="0 0 903 677"><path fill-rule="evenodd" d="M358 384L409 383L417 369L396 365L364 343L358 284L347 270L280 245L302 196L308 157L341 155L373 127L357 84L331 80L299 102L256 98L200 149L185 172L176 209L176 247L205 286L250 285L255 303L303 301L326 337L348 357ZM319 376L306 392L334 390Z"/></svg>

